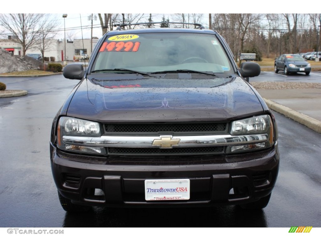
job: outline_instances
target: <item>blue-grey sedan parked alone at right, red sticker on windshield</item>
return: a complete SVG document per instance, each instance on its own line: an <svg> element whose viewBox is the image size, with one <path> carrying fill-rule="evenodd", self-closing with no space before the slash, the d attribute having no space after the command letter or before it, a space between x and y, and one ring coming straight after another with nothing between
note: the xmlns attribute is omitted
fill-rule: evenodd
<svg viewBox="0 0 321 241"><path fill-rule="evenodd" d="M279 70L284 71L286 75L298 72L309 75L311 65L299 54L282 54L274 61L275 73L278 73Z"/></svg>

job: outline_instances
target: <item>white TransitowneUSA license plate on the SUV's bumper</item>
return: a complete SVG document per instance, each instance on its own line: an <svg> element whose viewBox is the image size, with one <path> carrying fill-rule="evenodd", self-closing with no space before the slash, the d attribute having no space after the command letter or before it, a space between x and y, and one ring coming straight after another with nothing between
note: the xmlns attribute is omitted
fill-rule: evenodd
<svg viewBox="0 0 321 241"><path fill-rule="evenodd" d="M189 183L189 179L145 180L145 200L189 200Z"/></svg>

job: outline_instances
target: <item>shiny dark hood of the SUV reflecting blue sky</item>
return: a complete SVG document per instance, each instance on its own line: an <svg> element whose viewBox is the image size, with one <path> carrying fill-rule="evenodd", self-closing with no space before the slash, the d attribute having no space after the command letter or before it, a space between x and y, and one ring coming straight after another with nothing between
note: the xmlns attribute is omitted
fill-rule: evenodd
<svg viewBox="0 0 321 241"><path fill-rule="evenodd" d="M263 112L240 77L83 80L68 116L100 122L227 121Z"/></svg>

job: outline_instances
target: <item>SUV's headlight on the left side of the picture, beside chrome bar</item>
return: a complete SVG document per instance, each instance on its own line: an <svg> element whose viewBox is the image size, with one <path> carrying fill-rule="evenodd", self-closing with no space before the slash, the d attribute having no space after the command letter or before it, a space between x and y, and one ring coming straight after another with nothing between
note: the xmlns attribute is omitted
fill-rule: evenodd
<svg viewBox="0 0 321 241"><path fill-rule="evenodd" d="M61 117L57 128L57 146L66 151L95 154L106 153L104 147L89 147L82 145L82 143L79 143L79 145L64 143L63 137L68 136L100 137L100 125L97 122L72 117Z"/></svg>

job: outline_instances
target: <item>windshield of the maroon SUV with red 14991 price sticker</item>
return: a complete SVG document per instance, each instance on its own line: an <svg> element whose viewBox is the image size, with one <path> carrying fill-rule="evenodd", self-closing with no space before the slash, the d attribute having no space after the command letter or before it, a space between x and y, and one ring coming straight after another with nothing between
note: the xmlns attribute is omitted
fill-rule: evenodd
<svg viewBox="0 0 321 241"><path fill-rule="evenodd" d="M130 69L145 73L194 70L233 73L213 34L141 33L113 35L101 45L91 71Z"/></svg>

